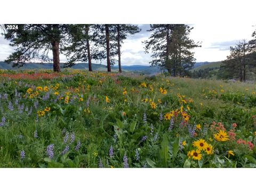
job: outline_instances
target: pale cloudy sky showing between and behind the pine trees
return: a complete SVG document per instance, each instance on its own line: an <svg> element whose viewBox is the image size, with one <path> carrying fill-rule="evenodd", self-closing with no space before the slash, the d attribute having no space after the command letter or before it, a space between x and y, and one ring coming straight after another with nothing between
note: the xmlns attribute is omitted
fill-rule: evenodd
<svg viewBox="0 0 256 192"><path fill-rule="evenodd" d="M189 25L194 27L191 30L190 38L195 42L202 42L202 47L194 49L196 62L204 61L221 61L225 60L229 54L229 47L234 46L239 40L250 40L252 33L255 30L256 23L239 23L237 25L227 23L197 23ZM149 65L150 53L144 53L145 41L150 36L151 32L147 29L149 25L139 25L140 33L130 35L122 45L121 62L122 65ZM10 53L13 52L13 47L9 46L3 36L0 36L0 61L5 60ZM64 55L60 55L61 62L65 62ZM97 63L97 61L93 61ZM105 61L101 61L102 64ZM99 63L99 61L98 61Z"/></svg>

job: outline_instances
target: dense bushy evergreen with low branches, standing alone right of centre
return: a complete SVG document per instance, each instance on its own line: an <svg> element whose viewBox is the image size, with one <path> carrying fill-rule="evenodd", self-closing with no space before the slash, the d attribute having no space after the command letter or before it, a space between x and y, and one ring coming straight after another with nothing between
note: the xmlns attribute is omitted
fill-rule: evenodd
<svg viewBox="0 0 256 192"><path fill-rule="evenodd" d="M164 67L173 76L187 75L195 63L191 49L199 46L188 37L191 29L187 25L150 25L148 31L154 33L143 43L146 53L153 52L151 65Z"/></svg>

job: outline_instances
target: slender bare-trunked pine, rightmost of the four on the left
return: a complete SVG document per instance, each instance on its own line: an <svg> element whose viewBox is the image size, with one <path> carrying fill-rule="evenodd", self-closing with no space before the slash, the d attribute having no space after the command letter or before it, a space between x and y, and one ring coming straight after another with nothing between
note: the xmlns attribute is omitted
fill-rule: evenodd
<svg viewBox="0 0 256 192"><path fill-rule="evenodd" d="M114 25L116 31L116 42L117 42L117 54L118 54L118 68L119 73L122 73L121 68L121 44L126 39L127 34L139 33L141 29L135 25L117 24Z"/></svg>

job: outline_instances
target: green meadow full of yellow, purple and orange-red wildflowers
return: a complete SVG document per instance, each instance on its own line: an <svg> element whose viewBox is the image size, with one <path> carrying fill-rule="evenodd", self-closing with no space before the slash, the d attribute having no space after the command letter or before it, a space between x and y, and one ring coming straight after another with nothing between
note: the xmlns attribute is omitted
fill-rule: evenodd
<svg viewBox="0 0 256 192"><path fill-rule="evenodd" d="M256 167L254 84L0 72L0 167Z"/></svg>

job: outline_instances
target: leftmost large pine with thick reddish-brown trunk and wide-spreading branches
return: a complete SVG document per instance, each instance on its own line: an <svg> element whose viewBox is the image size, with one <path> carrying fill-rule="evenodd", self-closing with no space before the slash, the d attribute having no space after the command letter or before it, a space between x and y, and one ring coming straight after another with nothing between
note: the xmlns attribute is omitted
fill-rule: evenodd
<svg viewBox="0 0 256 192"><path fill-rule="evenodd" d="M6 29L4 37L15 47L15 52L6 62L13 62L13 66L22 67L26 61L51 61L51 50L53 71L59 72L60 47L66 35L67 25L18 25L18 29Z"/></svg>

